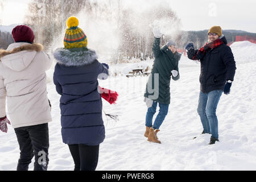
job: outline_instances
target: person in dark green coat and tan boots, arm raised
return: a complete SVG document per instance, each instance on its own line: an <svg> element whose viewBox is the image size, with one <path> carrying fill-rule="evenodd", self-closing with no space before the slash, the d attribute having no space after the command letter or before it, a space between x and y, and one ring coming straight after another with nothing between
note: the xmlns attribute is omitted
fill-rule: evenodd
<svg viewBox="0 0 256 182"><path fill-rule="evenodd" d="M161 143L156 134L160 131L159 128L168 113L171 101L171 77L175 81L180 78L178 65L181 54L177 53L176 44L172 40L169 40L165 46L160 48L160 38L163 34L158 28L154 28L153 33L155 41L152 51L155 61L147 82L146 93L144 94L144 101L148 106L144 136L148 138L149 142ZM152 126L152 119L158 104L160 110L155 119L154 126Z"/></svg>

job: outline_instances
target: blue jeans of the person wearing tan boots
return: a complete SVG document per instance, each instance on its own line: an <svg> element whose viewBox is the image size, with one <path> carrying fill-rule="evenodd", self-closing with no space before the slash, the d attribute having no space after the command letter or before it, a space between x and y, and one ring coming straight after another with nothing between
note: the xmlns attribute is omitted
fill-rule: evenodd
<svg viewBox="0 0 256 182"><path fill-rule="evenodd" d="M151 127L152 126L152 120L153 117L156 113L156 107L158 106L158 102L153 102L152 107L148 108L147 110L147 115L146 115L146 126L147 127ZM160 104L159 103L159 113L155 118L155 122L154 122L154 129L158 129L160 128L160 126L162 125L164 118L166 118L166 115L168 114L168 109L169 109L169 104Z"/></svg>

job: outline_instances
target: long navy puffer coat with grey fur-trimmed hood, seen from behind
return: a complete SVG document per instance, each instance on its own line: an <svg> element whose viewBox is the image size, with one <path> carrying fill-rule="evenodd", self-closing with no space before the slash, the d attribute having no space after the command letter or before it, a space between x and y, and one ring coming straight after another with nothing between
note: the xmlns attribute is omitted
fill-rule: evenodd
<svg viewBox="0 0 256 182"><path fill-rule="evenodd" d="M90 49L60 48L53 53L57 64L53 81L61 95L61 134L66 144L96 146L105 139L98 75L108 69Z"/></svg>

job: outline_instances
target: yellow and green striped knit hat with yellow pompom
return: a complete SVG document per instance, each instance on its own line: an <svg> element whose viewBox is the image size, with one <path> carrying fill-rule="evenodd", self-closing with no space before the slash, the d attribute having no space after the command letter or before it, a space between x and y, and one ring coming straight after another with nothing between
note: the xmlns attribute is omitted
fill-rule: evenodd
<svg viewBox="0 0 256 182"><path fill-rule="evenodd" d="M67 20L67 30L65 32L64 47L67 49L72 48L86 48L87 37L79 28L79 20L75 16L71 16Z"/></svg>

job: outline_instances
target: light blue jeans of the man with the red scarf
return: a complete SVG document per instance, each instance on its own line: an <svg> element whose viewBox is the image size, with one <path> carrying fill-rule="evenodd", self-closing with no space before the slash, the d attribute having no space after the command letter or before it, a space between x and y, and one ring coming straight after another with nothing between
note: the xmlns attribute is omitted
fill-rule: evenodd
<svg viewBox="0 0 256 182"><path fill-rule="evenodd" d="M205 133L212 134L218 139L218 119L216 109L222 95L222 90L213 90L209 93L200 92L197 113L200 115Z"/></svg>

